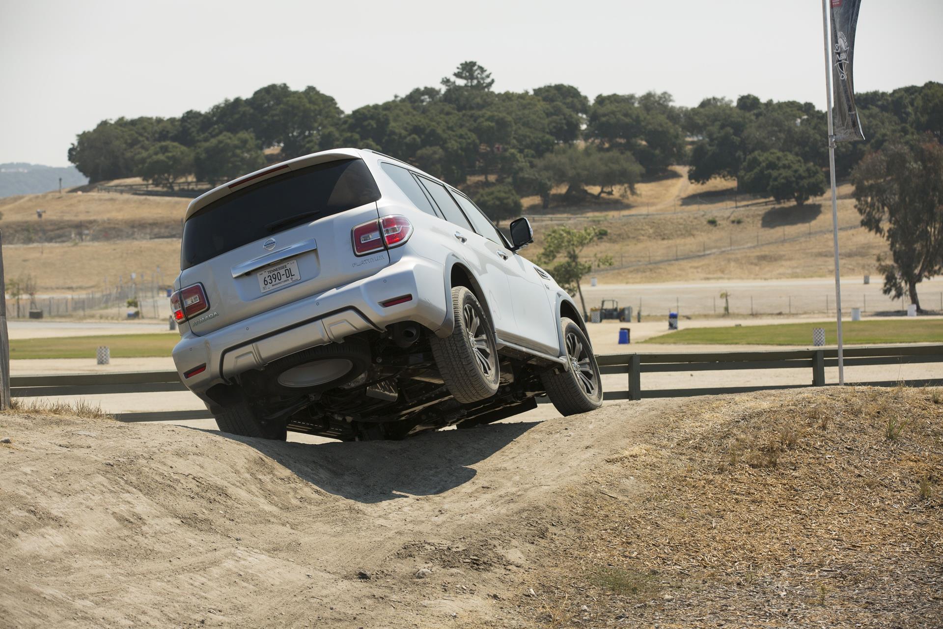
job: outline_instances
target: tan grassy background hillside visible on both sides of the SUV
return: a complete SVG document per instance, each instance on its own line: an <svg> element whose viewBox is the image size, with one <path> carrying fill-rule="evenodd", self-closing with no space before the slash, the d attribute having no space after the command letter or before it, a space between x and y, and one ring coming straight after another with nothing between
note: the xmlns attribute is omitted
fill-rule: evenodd
<svg viewBox="0 0 943 629"><path fill-rule="evenodd" d="M827 277L834 272L827 195L804 207L777 206L736 196L730 182L695 185L684 168L674 172L677 176L640 184L635 196L549 211L527 207L537 242L524 255L536 258L543 236L556 225L595 224L609 235L587 248L585 257L610 255L615 262L593 273L603 284ZM7 273L41 277L43 292L90 290L105 276L151 273L157 266L167 281L179 268L180 221L187 204L177 197L105 192L0 199ZM42 219L36 218L38 208L45 210ZM875 257L886 244L859 220L852 187L843 184L838 201L842 271L875 274Z"/></svg>

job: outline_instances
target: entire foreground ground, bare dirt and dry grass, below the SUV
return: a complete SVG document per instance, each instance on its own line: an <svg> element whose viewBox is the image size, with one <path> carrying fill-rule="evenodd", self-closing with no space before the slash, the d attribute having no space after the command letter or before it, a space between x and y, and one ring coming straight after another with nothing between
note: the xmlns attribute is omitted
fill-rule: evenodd
<svg viewBox="0 0 943 629"><path fill-rule="evenodd" d="M10 626L934 627L939 400L644 400L318 444L13 411L0 608Z"/></svg>

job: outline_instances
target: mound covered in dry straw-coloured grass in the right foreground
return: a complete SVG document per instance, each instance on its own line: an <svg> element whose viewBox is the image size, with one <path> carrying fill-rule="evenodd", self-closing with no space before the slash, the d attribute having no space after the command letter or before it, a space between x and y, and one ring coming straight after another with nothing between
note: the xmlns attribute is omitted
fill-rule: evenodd
<svg viewBox="0 0 943 629"><path fill-rule="evenodd" d="M572 615L588 604L581 626L938 626L938 395L692 401L598 473L633 495L574 489L582 525L554 541L543 590ZM891 421L902 429L886 439ZM651 588L639 597L601 573L649 575Z"/></svg>

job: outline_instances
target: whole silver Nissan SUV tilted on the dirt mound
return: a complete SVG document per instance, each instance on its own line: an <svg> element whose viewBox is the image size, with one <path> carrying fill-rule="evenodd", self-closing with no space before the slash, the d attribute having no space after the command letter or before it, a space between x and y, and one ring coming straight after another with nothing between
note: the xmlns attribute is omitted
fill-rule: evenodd
<svg viewBox="0 0 943 629"><path fill-rule="evenodd" d="M544 392L603 390L570 295L472 201L409 164L338 149L248 174L187 209L171 298L180 379L221 430L401 439L494 422Z"/></svg>

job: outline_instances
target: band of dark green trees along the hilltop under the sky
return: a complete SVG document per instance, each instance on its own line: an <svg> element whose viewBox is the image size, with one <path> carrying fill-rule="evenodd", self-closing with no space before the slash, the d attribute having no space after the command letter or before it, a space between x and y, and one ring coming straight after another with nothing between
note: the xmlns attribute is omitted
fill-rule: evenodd
<svg viewBox="0 0 943 629"><path fill-rule="evenodd" d="M69 160L92 182L141 176L173 188L188 175L222 183L264 166L339 146L372 148L409 161L457 186L485 174L485 201L504 216L518 196L565 186L571 201L630 190L643 175L690 165L693 181L736 179L743 192L802 203L821 193L828 167L825 113L811 103L762 102L752 94L674 105L667 92L600 94L592 101L571 85L494 91L474 61L438 87L343 112L314 87L261 88L177 118L102 121L76 137ZM837 150L839 176L888 139L943 128L943 86L931 82L858 96L866 142ZM278 150L273 150L277 148ZM270 149L266 151L266 149ZM494 188L492 190L492 188Z"/></svg>

